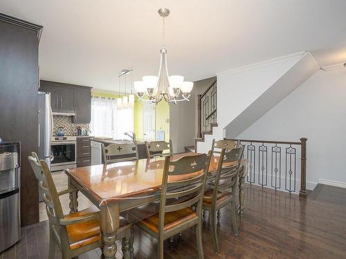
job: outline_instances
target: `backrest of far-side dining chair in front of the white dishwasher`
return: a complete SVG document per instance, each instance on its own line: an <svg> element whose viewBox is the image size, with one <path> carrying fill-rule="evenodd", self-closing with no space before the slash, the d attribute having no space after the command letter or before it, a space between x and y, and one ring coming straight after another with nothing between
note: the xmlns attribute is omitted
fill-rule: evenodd
<svg viewBox="0 0 346 259"><path fill-rule="evenodd" d="M102 146L102 158L104 164L116 162L138 160L137 142L109 144Z"/></svg>

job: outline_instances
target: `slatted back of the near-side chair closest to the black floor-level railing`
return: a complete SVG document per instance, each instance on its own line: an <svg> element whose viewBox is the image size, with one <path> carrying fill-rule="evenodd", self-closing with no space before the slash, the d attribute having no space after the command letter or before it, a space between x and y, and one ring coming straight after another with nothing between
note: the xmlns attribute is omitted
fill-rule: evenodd
<svg viewBox="0 0 346 259"><path fill-rule="evenodd" d="M242 162L244 146L239 148L222 148L219 163L217 164L217 172L215 180L208 183L213 186L212 204L217 202L217 193L230 189L237 183L237 177ZM227 164L230 163L229 166Z"/></svg>

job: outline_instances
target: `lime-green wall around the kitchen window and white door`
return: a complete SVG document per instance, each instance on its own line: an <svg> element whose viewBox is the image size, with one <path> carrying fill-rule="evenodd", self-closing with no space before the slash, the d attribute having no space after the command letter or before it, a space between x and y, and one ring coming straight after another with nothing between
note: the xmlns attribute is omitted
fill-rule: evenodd
<svg viewBox="0 0 346 259"><path fill-rule="evenodd" d="M115 93L104 93L98 91L92 91L92 96L105 97L105 98L117 98ZM120 95L120 97L122 97ZM156 105L155 109L155 131L165 131L165 141L170 140L170 105L165 101L161 101ZM134 132L138 140L143 140L143 101L134 102Z"/></svg>

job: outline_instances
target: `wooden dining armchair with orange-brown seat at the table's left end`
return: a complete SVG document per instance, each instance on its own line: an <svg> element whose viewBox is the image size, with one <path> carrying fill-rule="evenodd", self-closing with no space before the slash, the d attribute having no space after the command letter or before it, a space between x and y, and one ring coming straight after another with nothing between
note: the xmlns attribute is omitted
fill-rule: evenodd
<svg viewBox="0 0 346 259"><path fill-rule="evenodd" d="M55 246L62 251L62 258L74 258L82 253L100 247L102 238L100 233L100 211L91 207L64 215L60 196L77 191L66 189L57 192L51 171L44 160L38 160L36 153L28 157L31 167L39 181L39 189L42 190L44 203L49 222L49 259L55 258ZM122 239L123 258L133 258L131 249L131 225L124 218L120 219L120 227L117 238Z"/></svg>

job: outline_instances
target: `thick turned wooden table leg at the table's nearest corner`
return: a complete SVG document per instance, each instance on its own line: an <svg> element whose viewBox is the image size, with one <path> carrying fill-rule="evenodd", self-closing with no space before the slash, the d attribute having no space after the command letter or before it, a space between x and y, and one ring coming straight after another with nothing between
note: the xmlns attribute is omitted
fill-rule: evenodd
<svg viewBox="0 0 346 259"><path fill-rule="evenodd" d="M101 204L100 225L104 244L104 258L116 258L116 231L119 229L120 210L118 203Z"/></svg>

